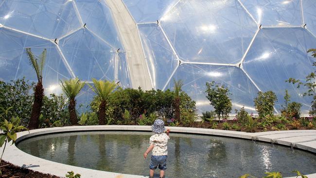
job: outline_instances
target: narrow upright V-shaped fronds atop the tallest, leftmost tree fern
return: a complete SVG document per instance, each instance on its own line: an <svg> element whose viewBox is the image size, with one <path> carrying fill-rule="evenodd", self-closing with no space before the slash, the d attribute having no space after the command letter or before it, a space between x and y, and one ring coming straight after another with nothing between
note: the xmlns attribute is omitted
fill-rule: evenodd
<svg viewBox="0 0 316 178"><path fill-rule="evenodd" d="M38 56L38 58L35 57L35 55L32 53L31 48L26 48L25 51L26 51L26 54L30 60L30 64L33 66L33 68L36 72L38 82L40 82L40 80L43 76L42 72L44 69L47 50L44 49L44 51Z"/></svg>

